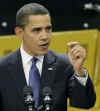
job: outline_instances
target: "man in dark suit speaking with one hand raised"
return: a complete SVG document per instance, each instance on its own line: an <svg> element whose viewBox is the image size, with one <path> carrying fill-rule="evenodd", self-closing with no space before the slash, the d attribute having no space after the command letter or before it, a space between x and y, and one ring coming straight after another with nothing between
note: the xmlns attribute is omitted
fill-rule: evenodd
<svg viewBox="0 0 100 111"><path fill-rule="evenodd" d="M36 108L42 104L44 87L52 89L55 111L66 111L68 97L74 107L94 105L93 84L82 67L86 51L78 42L68 44L68 55L48 50L52 24L45 7L30 3L19 9L15 33L22 40L21 48L0 60L0 111L24 110L23 88L31 85L33 58L38 59L35 66L41 76Z"/></svg>

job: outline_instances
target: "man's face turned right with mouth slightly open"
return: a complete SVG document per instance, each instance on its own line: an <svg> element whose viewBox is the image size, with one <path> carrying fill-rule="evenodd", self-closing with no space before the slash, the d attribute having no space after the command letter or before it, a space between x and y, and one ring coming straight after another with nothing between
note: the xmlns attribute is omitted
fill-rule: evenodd
<svg viewBox="0 0 100 111"><path fill-rule="evenodd" d="M22 32L24 50L32 56L44 55L48 51L52 26L49 15L30 15Z"/></svg>

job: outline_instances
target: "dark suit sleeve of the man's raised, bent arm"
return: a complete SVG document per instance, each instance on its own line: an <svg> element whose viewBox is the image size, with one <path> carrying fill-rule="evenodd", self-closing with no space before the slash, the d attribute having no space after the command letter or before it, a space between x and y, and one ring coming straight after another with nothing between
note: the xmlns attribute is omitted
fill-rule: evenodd
<svg viewBox="0 0 100 111"><path fill-rule="evenodd" d="M92 80L88 75L86 85L82 85L74 76L74 69L67 56L67 65L65 73L67 74L67 96L70 98L72 107L89 109L94 106L96 101L96 93Z"/></svg>

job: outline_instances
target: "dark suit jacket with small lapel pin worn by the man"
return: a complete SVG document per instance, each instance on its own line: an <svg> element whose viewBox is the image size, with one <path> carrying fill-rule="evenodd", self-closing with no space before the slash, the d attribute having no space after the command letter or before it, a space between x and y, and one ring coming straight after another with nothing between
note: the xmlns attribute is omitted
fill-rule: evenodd
<svg viewBox="0 0 100 111"><path fill-rule="evenodd" d="M49 70L50 68L53 70ZM66 55L48 51L43 62L39 105L42 104L42 89L49 86L53 91L55 111L67 110L68 97L74 107L92 107L96 97L90 78L84 87L73 74L73 67ZM0 60L0 111L24 111L25 85L26 79L18 50Z"/></svg>

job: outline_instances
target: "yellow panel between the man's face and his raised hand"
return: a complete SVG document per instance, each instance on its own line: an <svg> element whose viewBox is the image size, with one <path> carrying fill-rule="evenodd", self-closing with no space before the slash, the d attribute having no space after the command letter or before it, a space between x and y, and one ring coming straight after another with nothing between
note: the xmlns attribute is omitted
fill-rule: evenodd
<svg viewBox="0 0 100 111"><path fill-rule="evenodd" d="M66 53L68 42L80 42L80 44L82 44L87 50L87 58L84 66L88 68L91 78L93 79L95 72L97 38L97 30L56 32L53 33L50 49L53 49L56 52Z"/></svg>

